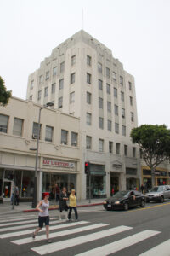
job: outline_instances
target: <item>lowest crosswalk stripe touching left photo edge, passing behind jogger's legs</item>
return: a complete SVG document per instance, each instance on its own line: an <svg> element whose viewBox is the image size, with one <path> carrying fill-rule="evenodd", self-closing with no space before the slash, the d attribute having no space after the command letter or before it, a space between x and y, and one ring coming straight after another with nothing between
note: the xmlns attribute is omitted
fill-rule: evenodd
<svg viewBox="0 0 170 256"><path fill-rule="evenodd" d="M65 220L56 220L56 222L58 223L64 223ZM88 221L79 221L76 223L67 223L67 224L60 224L60 225L54 225L54 226L50 226L49 230L58 230L58 229L63 229L63 228L68 228L71 226L76 226L76 225L80 225L80 224L88 224ZM36 228L36 227L35 227ZM23 231L18 231L18 232L12 232L12 233L7 233L7 234L2 234L0 235L0 238L8 238L8 237L14 237L14 236L23 236L23 235L28 235L31 234L32 232L34 232L34 230L23 230ZM40 230L40 232L42 232L44 230Z"/></svg>

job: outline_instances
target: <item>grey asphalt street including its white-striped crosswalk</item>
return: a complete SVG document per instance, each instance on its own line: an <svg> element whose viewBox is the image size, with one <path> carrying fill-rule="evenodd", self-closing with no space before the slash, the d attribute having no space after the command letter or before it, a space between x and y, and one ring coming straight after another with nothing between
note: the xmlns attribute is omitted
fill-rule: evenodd
<svg viewBox="0 0 170 256"><path fill-rule="evenodd" d="M147 252L142 256L170 256L170 201L127 212L106 212L102 206L83 207L78 212L79 222L68 223L56 218L57 211L50 211L51 244L44 231L35 241L31 238L37 213L2 216L0 255L137 256Z"/></svg>

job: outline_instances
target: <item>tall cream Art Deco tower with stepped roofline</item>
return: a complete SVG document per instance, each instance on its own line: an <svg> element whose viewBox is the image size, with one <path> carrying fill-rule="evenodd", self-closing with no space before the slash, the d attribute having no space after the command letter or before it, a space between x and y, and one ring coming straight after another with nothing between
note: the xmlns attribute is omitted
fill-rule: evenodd
<svg viewBox="0 0 170 256"><path fill-rule="evenodd" d="M140 185L139 148L130 139L138 125L133 76L111 49L80 31L53 49L28 79L26 98L80 119L82 198Z"/></svg>

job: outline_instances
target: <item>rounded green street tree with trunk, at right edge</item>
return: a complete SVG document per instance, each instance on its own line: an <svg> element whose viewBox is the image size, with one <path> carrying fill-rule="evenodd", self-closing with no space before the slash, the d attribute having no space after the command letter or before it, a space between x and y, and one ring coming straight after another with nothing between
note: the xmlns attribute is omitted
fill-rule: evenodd
<svg viewBox="0 0 170 256"><path fill-rule="evenodd" d="M170 159L170 130L166 125L141 125L130 135L138 143L142 158L151 171L151 184L155 185L156 167Z"/></svg>

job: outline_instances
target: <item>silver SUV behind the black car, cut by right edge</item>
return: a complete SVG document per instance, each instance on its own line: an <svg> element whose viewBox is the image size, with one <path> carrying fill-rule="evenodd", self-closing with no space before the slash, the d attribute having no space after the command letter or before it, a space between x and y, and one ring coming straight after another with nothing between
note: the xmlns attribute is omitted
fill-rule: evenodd
<svg viewBox="0 0 170 256"><path fill-rule="evenodd" d="M164 202L165 199L170 199L170 186L156 186L150 189L149 193L146 193L146 201L160 201Z"/></svg>

